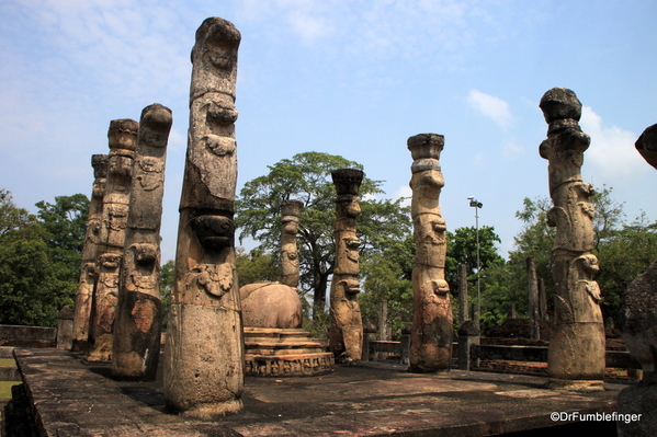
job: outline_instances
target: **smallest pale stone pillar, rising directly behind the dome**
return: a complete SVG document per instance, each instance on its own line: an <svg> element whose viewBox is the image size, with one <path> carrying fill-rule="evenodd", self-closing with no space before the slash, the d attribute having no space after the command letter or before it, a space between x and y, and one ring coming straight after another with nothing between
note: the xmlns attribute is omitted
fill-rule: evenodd
<svg viewBox="0 0 657 437"><path fill-rule="evenodd" d="M298 286L298 252L296 233L304 203L287 200L281 205L281 284Z"/></svg>

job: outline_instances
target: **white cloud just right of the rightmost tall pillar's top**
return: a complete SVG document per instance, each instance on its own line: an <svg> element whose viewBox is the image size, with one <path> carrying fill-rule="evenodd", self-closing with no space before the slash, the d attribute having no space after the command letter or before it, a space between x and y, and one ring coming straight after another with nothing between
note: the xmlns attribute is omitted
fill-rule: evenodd
<svg viewBox="0 0 657 437"><path fill-rule="evenodd" d="M614 186L652 170L634 148L638 135L605 125L589 106L582 107L580 125L591 137L591 146L585 153L585 166L593 168L591 174L596 175L596 180L600 177L605 184Z"/></svg>

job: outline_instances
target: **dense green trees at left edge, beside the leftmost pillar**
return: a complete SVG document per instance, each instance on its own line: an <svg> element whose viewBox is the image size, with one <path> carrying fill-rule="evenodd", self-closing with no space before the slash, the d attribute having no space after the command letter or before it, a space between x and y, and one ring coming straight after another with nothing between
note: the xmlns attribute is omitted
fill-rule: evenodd
<svg viewBox="0 0 657 437"><path fill-rule="evenodd" d="M39 202L38 220L0 191L0 323L54 326L73 306L89 200Z"/></svg>

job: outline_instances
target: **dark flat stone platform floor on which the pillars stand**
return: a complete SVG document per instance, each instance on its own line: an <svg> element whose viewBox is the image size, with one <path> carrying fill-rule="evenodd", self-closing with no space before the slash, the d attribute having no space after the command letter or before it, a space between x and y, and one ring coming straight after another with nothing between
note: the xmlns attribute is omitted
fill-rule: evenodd
<svg viewBox="0 0 657 437"><path fill-rule="evenodd" d="M553 412L612 413L624 384L596 393L546 390L545 378L406 366L336 366L333 373L246 378L242 413L194 422L165 412L161 375L114 381L109 365L83 365L56 349L15 349L42 436L513 436L586 432L615 435L614 423L553 422ZM543 429L540 429L543 428Z"/></svg>

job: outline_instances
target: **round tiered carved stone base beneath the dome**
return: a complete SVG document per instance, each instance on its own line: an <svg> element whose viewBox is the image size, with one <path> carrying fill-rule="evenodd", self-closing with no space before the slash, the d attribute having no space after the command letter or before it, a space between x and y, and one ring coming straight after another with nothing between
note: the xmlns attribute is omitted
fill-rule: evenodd
<svg viewBox="0 0 657 437"><path fill-rule="evenodd" d="M331 373L333 354L301 329L245 327L245 373L256 377L309 377Z"/></svg>

